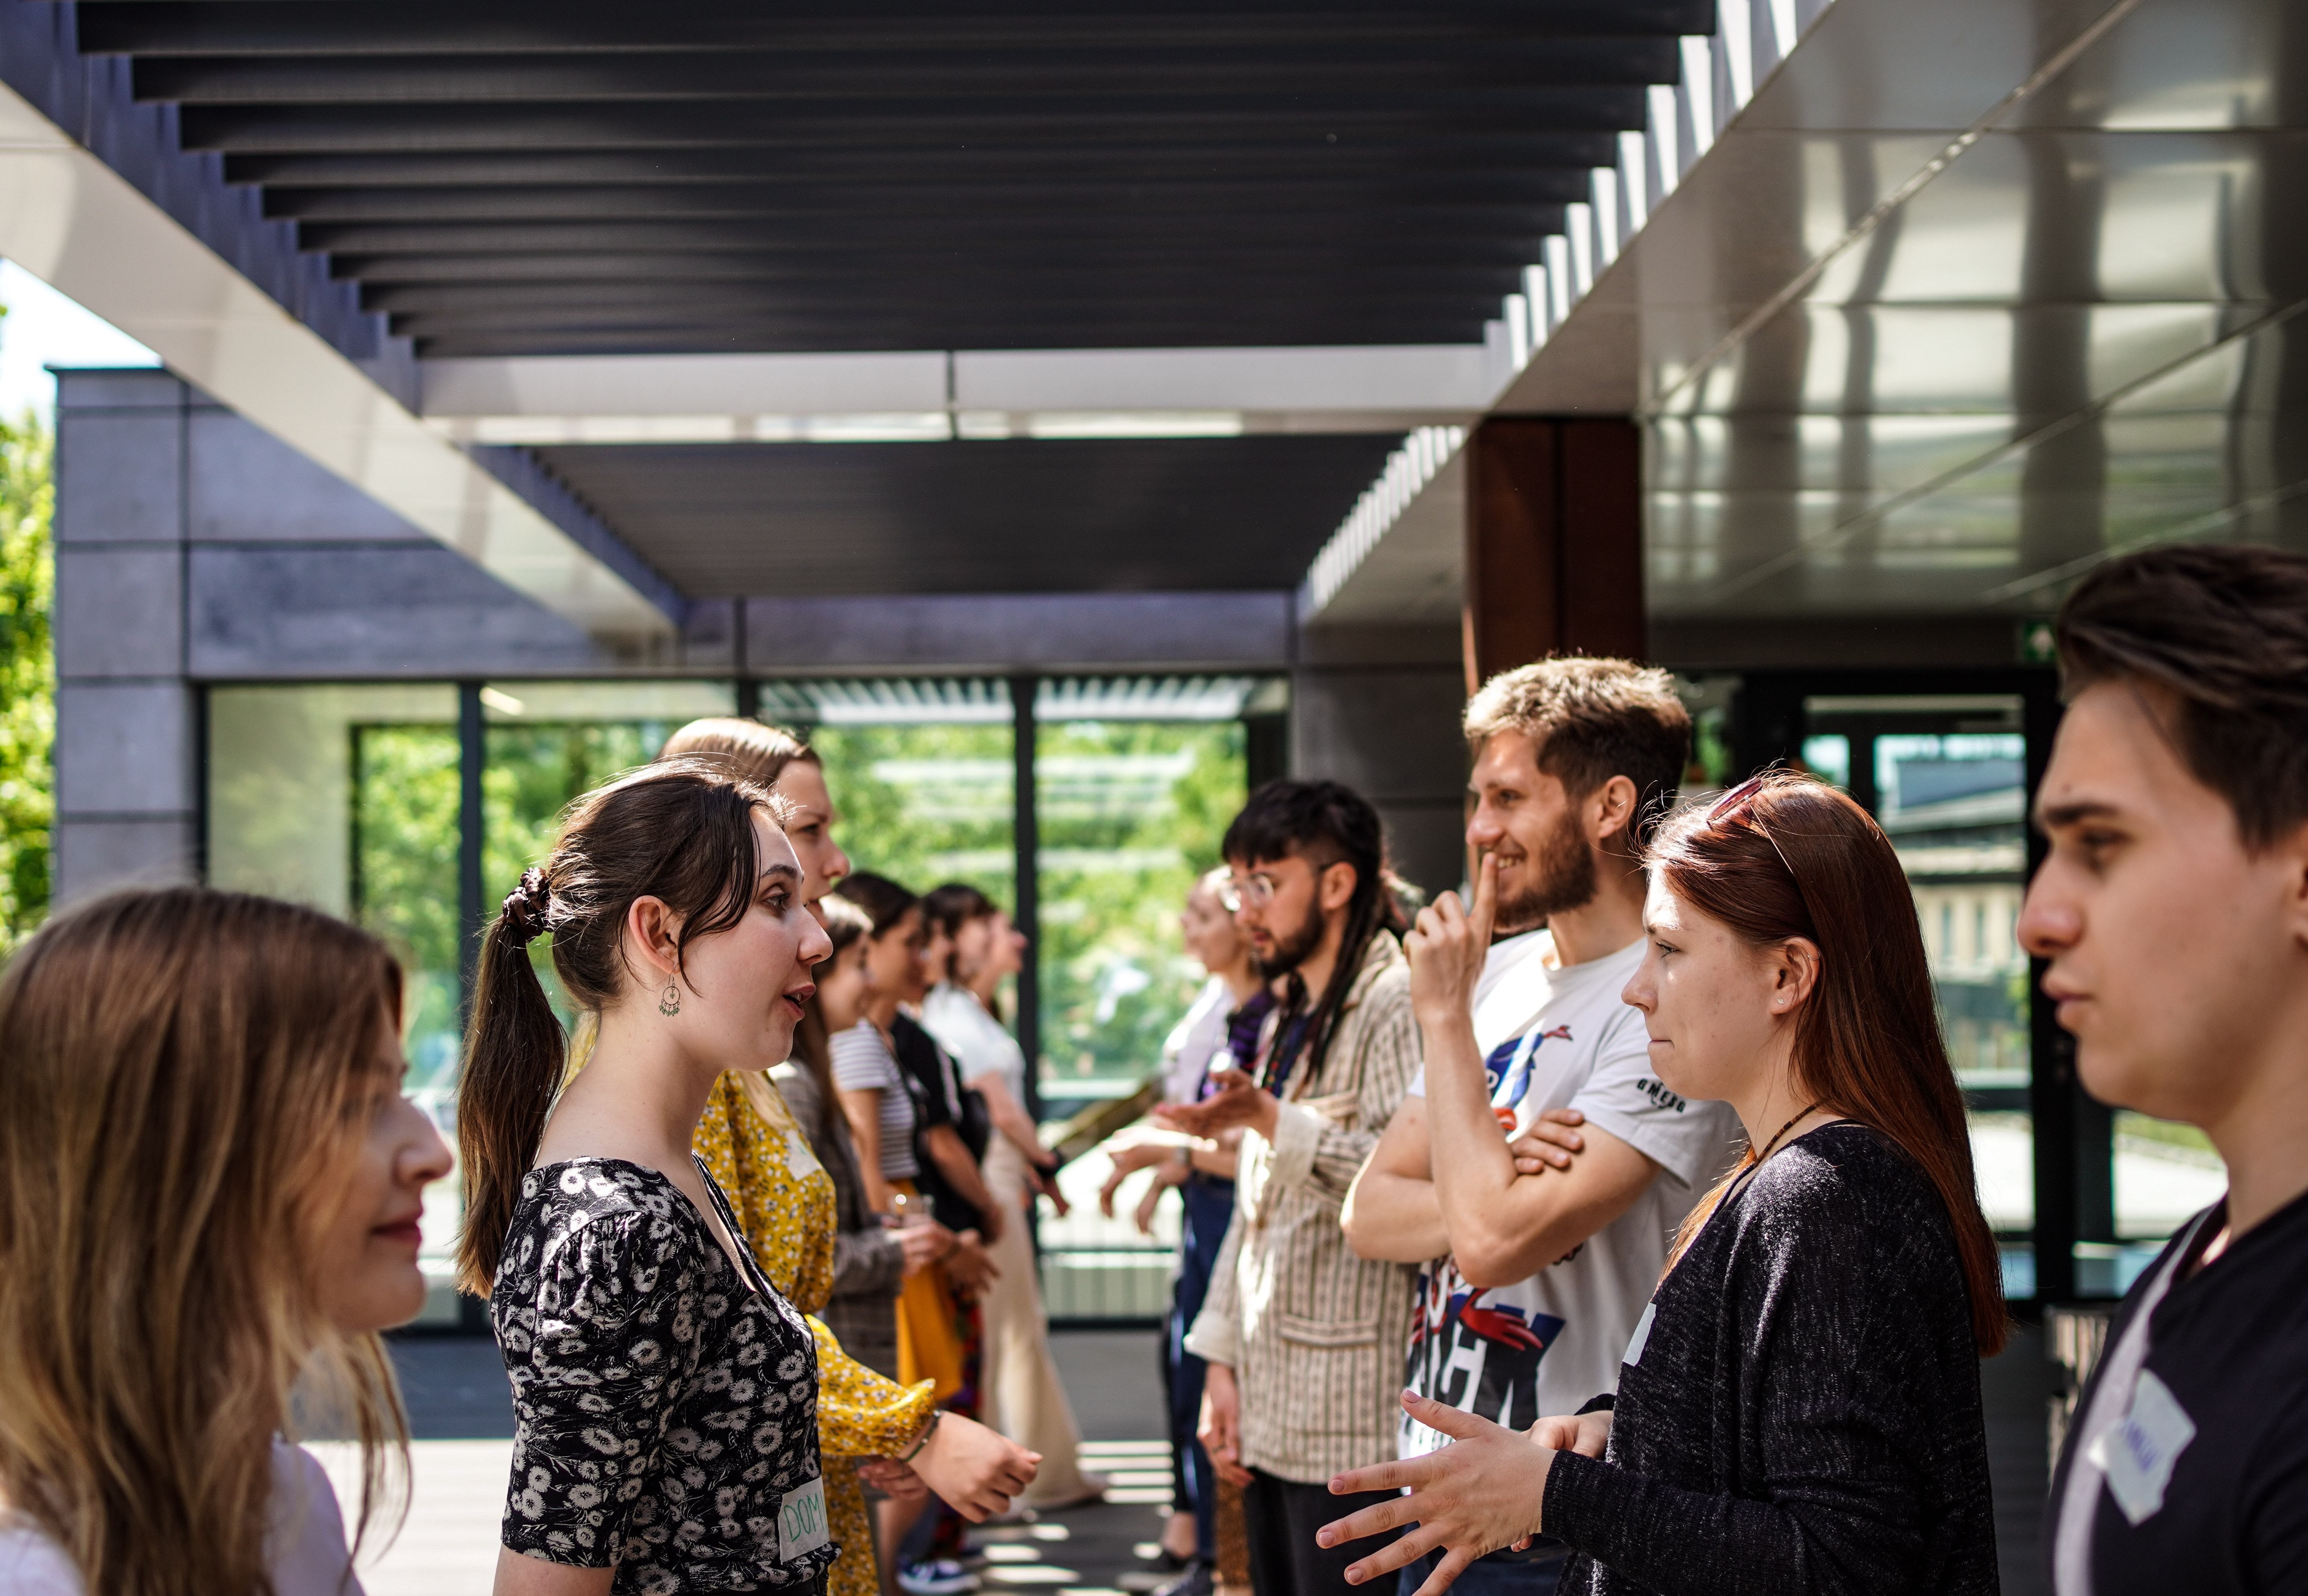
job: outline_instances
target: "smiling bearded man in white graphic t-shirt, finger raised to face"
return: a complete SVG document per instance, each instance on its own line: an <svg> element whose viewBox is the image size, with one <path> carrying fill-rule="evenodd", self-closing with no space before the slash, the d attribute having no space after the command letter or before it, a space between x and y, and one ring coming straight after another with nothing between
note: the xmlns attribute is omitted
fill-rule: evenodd
<svg viewBox="0 0 2308 1596"><path fill-rule="evenodd" d="M1542 660L1493 676L1466 736L1475 904L1445 893L1410 939L1426 1068L1348 1197L1346 1234L1364 1257L1424 1266L1410 1388L1526 1428L1618 1384L1669 1236L1738 1119L1666 1091L1643 1015L1620 1001L1643 962L1641 842L1692 745L1673 678ZM1406 1458L1447 1439L1401 1421ZM1542 1538L1459 1584L1546 1596L1565 1554ZM1403 1568L1406 1596L1436 1561Z"/></svg>

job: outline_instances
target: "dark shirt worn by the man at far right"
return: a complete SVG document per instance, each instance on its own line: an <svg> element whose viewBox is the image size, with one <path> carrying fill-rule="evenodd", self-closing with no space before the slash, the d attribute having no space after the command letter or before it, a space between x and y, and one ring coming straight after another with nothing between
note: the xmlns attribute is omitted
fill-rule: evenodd
<svg viewBox="0 0 2308 1596"><path fill-rule="evenodd" d="M2190 1250L2202 1255L2223 1222L2216 1204L2193 1227ZM2172 1245L2188 1245L2188 1236L2190 1229L2181 1229ZM2165 1257L2170 1252L2165 1248ZM2107 1331L2110 1352L2121 1345L2165 1257L2123 1298ZM2220 1259L2188 1273L2193 1262L2181 1262L2149 1315L2144 1363L2179 1402L2193 1435L2172 1458L2163 1504L2137 1525L2100 1485L2089 1596L2308 1591L2308 1197L2292 1199ZM2075 1409L2080 1418L2091 1411L2098 1386L2093 1375ZM2043 1538L2052 1552L2073 1465L2061 1455L2052 1481ZM2061 1589L2059 1596L2086 1591Z"/></svg>

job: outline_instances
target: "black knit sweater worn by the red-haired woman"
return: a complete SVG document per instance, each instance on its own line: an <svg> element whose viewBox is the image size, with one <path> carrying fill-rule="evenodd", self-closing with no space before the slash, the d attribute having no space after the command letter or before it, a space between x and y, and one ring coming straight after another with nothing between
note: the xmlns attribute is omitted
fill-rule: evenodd
<svg viewBox="0 0 2308 1596"><path fill-rule="evenodd" d="M1602 1460L1558 1453L1565 1591L1996 1591L1980 1358L1946 1204L1897 1146L1796 1137L1653 1298Z"/></svg>

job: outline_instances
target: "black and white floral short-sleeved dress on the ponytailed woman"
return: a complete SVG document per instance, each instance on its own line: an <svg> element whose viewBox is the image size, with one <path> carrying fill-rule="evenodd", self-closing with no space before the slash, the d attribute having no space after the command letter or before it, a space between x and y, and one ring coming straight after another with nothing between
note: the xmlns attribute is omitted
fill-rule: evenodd
<svg viewBox="0 0 2308 1596"><path fill-rule="evenodd" d="M819 1584L840 1548L817 1465L817 1347L679 1185L621 1158L531 1169L489 1312L512 1379L508 1548L614 1564L612 1591L649 1596Z"/></svg>

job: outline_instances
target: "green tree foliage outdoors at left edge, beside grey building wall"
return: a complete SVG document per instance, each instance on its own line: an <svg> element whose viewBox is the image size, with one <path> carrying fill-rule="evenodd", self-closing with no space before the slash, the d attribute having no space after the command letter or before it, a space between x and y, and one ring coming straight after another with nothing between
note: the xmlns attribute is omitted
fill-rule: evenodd
<svg viewBox="0 0 2308 1596"><path fill-rule="evenodd" d="M48 913L48 826L55 814L55 507L48 429L0 424L0 941L14 946Z"/></svg>

